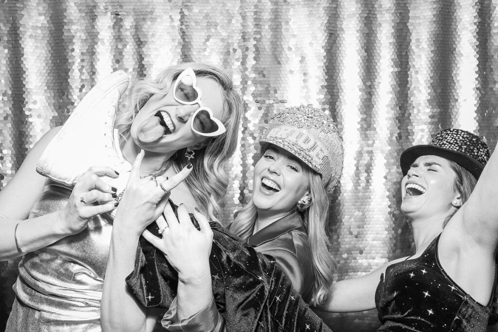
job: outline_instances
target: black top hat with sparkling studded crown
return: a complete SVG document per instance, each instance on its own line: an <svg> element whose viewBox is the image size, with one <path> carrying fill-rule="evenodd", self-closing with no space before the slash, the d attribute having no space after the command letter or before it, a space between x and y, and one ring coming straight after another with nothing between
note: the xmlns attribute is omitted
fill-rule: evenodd
<svg viewBox="0 0 498 332"><path fill-rule="evenodd" d="M420 156L435 155L452 160L479 179L490 159L490 149L481 137L462 129L445 129L434 136L428 145L415 145L401 153L403 176Z"/></svg>

